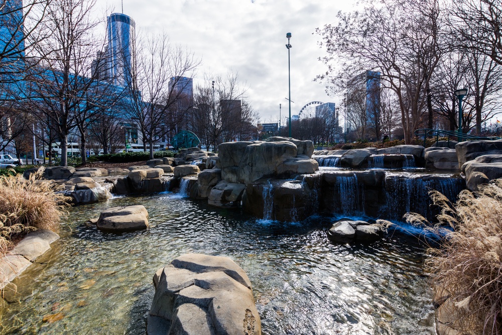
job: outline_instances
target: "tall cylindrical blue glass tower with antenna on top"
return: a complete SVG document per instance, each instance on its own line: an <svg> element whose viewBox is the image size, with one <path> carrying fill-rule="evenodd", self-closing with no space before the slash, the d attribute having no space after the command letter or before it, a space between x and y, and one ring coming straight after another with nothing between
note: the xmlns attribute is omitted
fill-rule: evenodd
<svg viewBox="0 0 502 335"><path fill-rule="evenodd" d="M107 18L109 76L113 84L129 87L133 80L136 23L129 16L113 13Z"/></svg>

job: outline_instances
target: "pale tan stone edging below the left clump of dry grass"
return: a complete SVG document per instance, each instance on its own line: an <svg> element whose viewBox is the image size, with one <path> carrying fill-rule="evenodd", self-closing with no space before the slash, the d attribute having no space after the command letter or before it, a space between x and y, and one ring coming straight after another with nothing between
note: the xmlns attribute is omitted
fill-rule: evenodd
<svg viewBox="0 0 502 335"><path fill-rule="evenodd" d="M59 235L48 230L28 233L6 256L0 259L0 296L2 289L21 275L33 262L51 250Z"/></svg>

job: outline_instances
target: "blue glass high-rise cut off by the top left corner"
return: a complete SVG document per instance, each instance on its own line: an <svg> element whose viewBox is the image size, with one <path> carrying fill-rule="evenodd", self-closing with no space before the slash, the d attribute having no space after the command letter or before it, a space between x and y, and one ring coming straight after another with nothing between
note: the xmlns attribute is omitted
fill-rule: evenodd
<svg viewBox="0 0 502 335"><path fill-rule="evenodd" d="M7 0L0 8L0 53L3 61L25 57L23 0Z"/></svg>

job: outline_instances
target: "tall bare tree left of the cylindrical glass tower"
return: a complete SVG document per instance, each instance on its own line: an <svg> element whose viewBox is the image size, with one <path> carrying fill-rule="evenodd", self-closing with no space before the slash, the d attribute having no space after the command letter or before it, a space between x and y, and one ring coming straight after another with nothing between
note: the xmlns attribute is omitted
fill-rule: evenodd
<svg viewBox="0 0 502 335"><path fill-rule="evenodd" d="M94 93L97 77L91 74L96 48L104 43L95 35L99 21L94 19L95 0L53 0L48 7L46 31L53 32L38 46L48 53L43 71L34 79L33 106L38 106L39 120L47 122L60 138L61 165L67 165L68 135L77 126L77 118L89 108L89 94Z"/></svg>

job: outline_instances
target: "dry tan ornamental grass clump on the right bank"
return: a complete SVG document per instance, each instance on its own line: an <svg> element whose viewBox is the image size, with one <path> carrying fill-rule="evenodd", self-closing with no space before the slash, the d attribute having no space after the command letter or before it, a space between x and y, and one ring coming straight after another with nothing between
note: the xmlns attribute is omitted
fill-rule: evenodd
<svg viewBox="0 0 502 335"><path fill-rule="evenodd" d="M431 197L442 208L431 230L444 240L430 249L427 265L436 297L449 297L456 306L450 326L461 333L502 334L502 179L477 192L462 191L454 204L436 191ZM414 213L407 220L426 222Z"/></svg>

